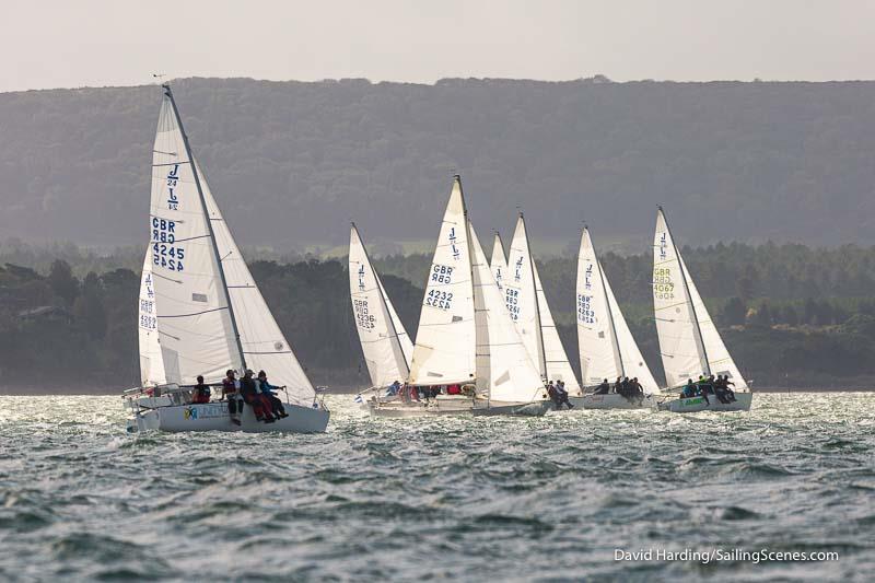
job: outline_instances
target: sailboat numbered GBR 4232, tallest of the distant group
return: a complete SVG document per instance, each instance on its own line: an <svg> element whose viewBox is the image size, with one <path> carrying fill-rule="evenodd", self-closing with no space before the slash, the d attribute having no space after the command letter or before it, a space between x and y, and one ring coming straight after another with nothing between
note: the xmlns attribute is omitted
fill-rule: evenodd
<svg viewBox="0 0 875 583"><path fill-rule="evenodd" d="M372 415L540 416L550 404L468 220L458 176L429 269L407 383L419 401L372 399Z"/></svg>

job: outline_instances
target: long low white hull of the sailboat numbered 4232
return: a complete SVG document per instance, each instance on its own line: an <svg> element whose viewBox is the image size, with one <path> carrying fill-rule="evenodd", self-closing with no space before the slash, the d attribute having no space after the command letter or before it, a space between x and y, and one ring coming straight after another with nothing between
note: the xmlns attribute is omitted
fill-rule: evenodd
<svg viewBox="0 0 875 583"><path fill-rule="evenodd" d="M467 397L439 397L429 404L425 401L413 401L405 404L400 400L390 401L368 401L368 408L373 417L402 418L402 417L440 417L452 415L474 415L474 416L529 416L540 417L546 413L552 403L497 403L492 401L487 406L486 400L472 401Z"/></svg>

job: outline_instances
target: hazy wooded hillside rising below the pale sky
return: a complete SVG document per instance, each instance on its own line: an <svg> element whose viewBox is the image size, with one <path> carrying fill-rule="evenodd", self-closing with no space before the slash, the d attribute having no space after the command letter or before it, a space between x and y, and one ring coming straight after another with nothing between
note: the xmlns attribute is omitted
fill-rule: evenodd
<svg viewBox="0 0 875 583"><path fill-rule="evenodd" d="M436 235L450 175L475 223L525 208L552 249L581 221L646 245L657 203L685 244L875 243L875 83L174 84L240 242L385 252ZM0 94L0 238L141 244L156 86Z"/></svg>

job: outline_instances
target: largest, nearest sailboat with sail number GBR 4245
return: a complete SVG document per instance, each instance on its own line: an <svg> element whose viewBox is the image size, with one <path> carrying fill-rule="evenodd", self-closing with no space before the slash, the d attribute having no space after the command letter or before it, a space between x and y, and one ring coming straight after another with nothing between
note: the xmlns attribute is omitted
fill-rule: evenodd
<svg viewBox="0 0 875 583"><path fill-rule="evenodd" d="M143 386L126 390L129 431L322 432L329 411L261 296L203 173L168 84L152 153L150 246L140 296ZM143 303L143 295L151 304ZM245 407L190 403L198 375L215 386L232 369L265 370L284 386L289 417L265 424Z"/></svg>

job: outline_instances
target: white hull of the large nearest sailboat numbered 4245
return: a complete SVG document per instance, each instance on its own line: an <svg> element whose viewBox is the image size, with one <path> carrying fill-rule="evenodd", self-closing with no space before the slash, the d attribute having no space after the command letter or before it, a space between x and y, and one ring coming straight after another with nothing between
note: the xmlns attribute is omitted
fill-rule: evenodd
<svg viewBox="0 0 875 583"><path fill-rule="evenodd" d="M159 407L135 415L128 420L128 431L243 431L246 433L323 433L330 412L324 408L283 404L289 417L273 423L262 423L255 418L252 407L244 407L241 424L231 421L228 403L176 405Z"/></svg>

